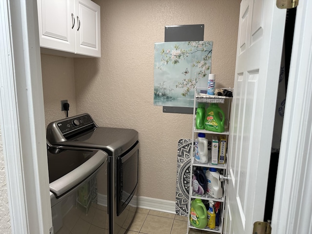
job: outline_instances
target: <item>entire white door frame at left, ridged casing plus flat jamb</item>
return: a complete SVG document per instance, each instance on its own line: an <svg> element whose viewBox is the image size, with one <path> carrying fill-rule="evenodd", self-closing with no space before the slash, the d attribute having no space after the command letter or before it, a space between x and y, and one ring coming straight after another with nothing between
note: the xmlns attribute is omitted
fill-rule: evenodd
<svg viewBox="0 0 312 234"><path fill-rule="evenodd" d="M0 1L0 124L13 234L52 226L36 0Z"/></svg>

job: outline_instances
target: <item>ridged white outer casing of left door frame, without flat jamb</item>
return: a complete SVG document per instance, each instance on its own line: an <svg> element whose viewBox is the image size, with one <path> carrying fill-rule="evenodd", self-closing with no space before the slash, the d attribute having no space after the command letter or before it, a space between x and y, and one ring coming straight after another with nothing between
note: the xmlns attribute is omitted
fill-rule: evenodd
<svg viewBox="0 0 312 234"><path fill-rule="evenodd" d="M26 204L22 199L23 183L18 174L21 168L20 150L16 141L19 141L19 128L17 126L17 107L15 102L14 88L14 61L12 58L9 12L7 1L0 1L0 101L1 101L1 131L3 156L5 162L6 181L8 187L8 200L10 207L10 221L12 233L23 233L27 230L27 217L25 214ZM8 111L10 110L10 111ZM11 157L15 156L15 157ZM22 175L21 175L22 176ZM15 203L12 201L15 199ZM15 215L17 214L17 215Z"/></svg>

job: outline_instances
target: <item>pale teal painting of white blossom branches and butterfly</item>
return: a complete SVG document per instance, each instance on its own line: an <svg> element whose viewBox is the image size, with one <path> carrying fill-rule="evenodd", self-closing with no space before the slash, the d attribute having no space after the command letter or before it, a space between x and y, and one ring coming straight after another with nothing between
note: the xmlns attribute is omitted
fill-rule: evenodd
<svg viewBox="0 0 312 234"><path fill-rule="evenodd" d="M212 41L155 43L154 105L193 107L194 88L207 87Z"/></svg>

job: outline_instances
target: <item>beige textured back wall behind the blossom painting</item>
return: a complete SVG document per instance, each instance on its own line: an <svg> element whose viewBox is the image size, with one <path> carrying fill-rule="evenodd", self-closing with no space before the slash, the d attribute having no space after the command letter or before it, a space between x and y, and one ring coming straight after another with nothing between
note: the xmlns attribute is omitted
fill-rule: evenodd
<svg viewBox="0 0 312 234"><path fill-rule="evenodd" d="M139 195L175 200L177 142L192 116L153 105L154 43L165 25L205 24L216 86L233 87L240 0L95 0L101 7L100 59L74 59L77 112L100 126L139 132Z"/></svg>

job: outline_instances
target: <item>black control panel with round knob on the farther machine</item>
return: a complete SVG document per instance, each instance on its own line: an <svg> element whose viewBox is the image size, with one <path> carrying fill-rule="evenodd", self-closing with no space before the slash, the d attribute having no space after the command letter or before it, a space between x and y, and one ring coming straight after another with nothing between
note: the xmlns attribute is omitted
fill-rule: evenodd
<svg viewBox="0 0 312 234"><path fill-rule="evenodd" d="M64 135L66 133L77 131L80 128L94 124L93 119L89 115L63 119L57 122L59 131Z"/></svg>

